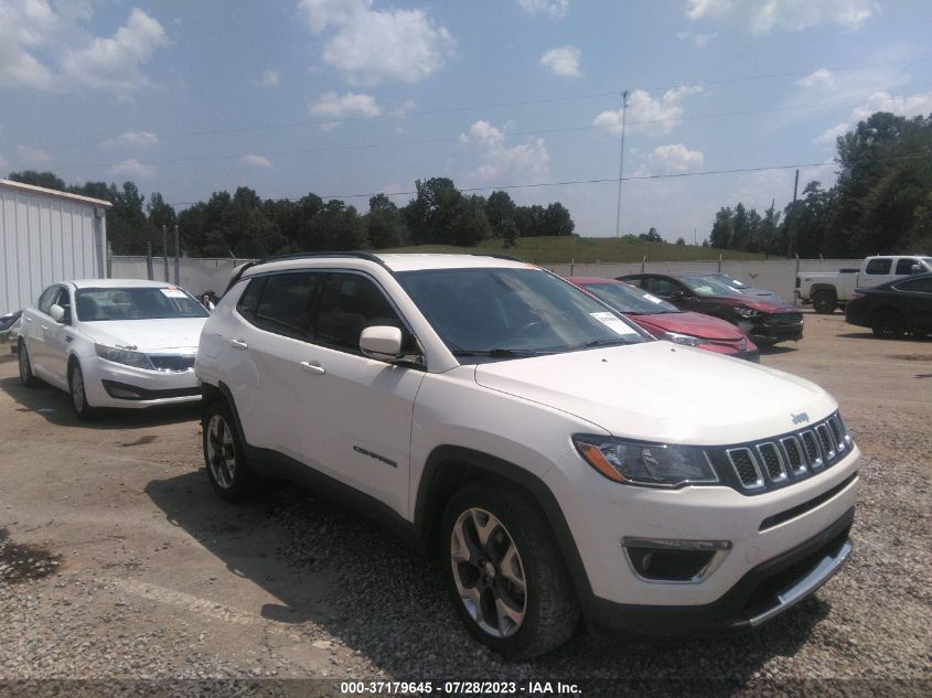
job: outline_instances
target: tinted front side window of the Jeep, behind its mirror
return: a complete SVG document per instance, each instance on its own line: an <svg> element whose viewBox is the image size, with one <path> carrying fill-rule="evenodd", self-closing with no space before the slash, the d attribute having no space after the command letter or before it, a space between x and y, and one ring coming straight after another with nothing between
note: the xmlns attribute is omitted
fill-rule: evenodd
<svg viewBox="0 0 932 698"><path fill-rule="evenodd" d="M323 283L314 341L334 348L360 351L366 327L388 325L401 330L403 347L414 353L414 341L385 298L369 279L356 273L330 273Z"/></svg>

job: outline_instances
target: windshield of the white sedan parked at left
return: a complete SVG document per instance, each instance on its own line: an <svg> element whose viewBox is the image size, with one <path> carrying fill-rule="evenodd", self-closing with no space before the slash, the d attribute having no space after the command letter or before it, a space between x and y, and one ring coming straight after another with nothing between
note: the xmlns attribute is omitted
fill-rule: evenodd
<svg viewBox="0 0 932 698"><path fill-rule="evenodd" d="M173 287L78 289L75 298L81 322L206 318L210 314L194 297Z"/></svg>

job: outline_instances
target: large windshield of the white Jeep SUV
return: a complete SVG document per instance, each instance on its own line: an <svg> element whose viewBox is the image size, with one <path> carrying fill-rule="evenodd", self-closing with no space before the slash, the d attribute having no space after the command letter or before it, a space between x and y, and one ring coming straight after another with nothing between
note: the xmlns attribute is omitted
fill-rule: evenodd
<svg viewBox="0 0 932 698"><path fill-rule="evenodd" d="M458 357L524 358L649 341L618 313L539 269L429 269L396 277Z"/></svg>

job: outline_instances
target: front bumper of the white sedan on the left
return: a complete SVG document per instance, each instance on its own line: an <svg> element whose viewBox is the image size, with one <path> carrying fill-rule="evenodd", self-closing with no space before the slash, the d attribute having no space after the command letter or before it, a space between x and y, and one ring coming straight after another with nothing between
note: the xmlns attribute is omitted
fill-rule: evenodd
<svg viewBox="0 0 932 698"><path fill-rule="evenodd" d="M100 357L83 359L81 367L87 402L92 407L143 409L196 402L201 399L193 368L178 372L148 371Z"/></svg>

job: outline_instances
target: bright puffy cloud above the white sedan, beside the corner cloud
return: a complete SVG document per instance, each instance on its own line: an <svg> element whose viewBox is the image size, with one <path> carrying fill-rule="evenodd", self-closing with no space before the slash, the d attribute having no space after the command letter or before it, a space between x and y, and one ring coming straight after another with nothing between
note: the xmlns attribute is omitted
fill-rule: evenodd
<svg viewBox="0 0 932 698"><path fill-rule="evenodd" d="M140 67L167 43L165 30L158 20L136 8L114 36L67 51L62 67L73 83L126 94L149 84Z"/></svg>

